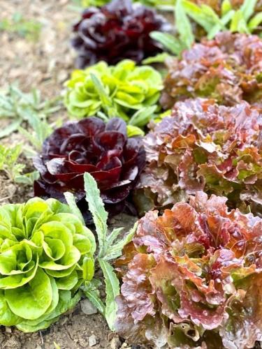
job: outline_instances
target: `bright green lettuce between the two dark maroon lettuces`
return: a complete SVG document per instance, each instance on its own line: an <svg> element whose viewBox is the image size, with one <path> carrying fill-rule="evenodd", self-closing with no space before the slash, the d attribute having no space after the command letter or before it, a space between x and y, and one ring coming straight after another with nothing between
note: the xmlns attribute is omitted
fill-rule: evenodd
<svg viewBox="0 0 262 349"><path fill-rule="evenodd" d="M116 66L101 61L85 70L74 70L66 87L64 103L73 117L103 112L108 117L129 121L138 110L152 106L157 110L163 84L160 73L151 66L136 66L134 61L125 59ZM144 123L139 120L136 124L132 119L132 124L144 126L147 121L145 117Z"/></svg>

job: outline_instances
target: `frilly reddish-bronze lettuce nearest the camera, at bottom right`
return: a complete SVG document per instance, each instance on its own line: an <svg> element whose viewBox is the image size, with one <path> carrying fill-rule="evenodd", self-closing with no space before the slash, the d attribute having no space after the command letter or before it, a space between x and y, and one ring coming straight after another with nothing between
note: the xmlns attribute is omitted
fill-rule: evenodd
<svg viewBox="0 0 262 349"><path fill-rule="evenodd" d="M203 192L138 223L116 262L116 330L154 348L253 348L262 339L262 219Z"/></svg>

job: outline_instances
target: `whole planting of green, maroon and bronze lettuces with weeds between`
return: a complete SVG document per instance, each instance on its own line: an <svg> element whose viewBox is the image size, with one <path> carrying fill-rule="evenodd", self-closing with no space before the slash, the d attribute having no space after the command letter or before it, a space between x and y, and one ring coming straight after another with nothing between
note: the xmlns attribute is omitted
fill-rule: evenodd
<svg viewBox="0 0 262 349"><path fill-rule="evenodd" d="M35 195L0 207L0 325L46 329L87 297L131 345L260 348L262 2L82 6L68 120L0 93L0 138L31 142L23 164L0 144L0 171ZM138 222L110 230L122 212Z"/></svg>

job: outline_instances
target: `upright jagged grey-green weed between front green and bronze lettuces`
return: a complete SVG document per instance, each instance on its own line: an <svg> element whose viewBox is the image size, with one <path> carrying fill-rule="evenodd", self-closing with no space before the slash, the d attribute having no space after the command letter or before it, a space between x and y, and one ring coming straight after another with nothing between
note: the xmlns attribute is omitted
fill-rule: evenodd
<svg viewBox="0 0 262 349"><path fill-rule="evenodd" d="M114 330L117 312L115 297L119 295L119 281L109 261L122 254L122 248L131 241L136 231L136 225L122 239L117 239L120 232L123 230L122 228L115 228L109 233L107 225L108 214L100 198L100 192L99 188L97 188L96 181L89 173L85 173L84 179L89 211L92 213L94 225L96 227L96 235L99 240L96 262L103 271L106 292L105 304L103 304L99 297L99 281L96 279L85 283L84 292L90 302L105 315L110 329Z"/></svg>

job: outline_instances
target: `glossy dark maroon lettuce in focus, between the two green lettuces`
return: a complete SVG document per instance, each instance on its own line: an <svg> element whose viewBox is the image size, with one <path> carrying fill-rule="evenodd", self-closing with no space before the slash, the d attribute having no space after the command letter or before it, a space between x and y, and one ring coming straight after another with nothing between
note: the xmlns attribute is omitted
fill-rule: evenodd
<svg viewBox="0 0 262 349"><path fill-rule="evenodd" d="M83 174L89 172L109 211L117 213L128 205L129 193L145 165L145 151L140 138L127 138L122 119L105 124L89 117L57 128L45 140L34 165L41 174L34 183L35 195L64 200L64 192L71 191L85 208Z"/></svg>

